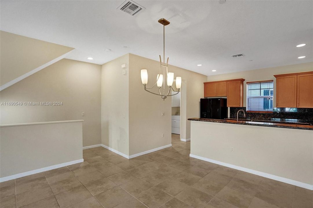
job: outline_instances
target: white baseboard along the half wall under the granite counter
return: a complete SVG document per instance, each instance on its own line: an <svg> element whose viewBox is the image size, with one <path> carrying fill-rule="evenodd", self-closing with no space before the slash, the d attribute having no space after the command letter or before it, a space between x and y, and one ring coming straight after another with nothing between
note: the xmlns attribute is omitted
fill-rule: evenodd
<svg viewBox="0 0 313 208"><path fill-rule="evenodd" d="M281 182L288 183L288 184L291 184L291 185L294 185L294 186L299 186L299 187L302 187L302 188L305 188L305 189L313 190L313 185L312 184L303 183L303 182L300 182L300 181L295 181L295 180L284 178L284 177L280 177L280 176L275 176L275 175L272 175L272 174L269 174L269 173L264 173L264 172L261 172L261 171L255 171L255 170L252 170L252 169L249 169L249 168L236 166L236 165L232 165L232 164L221 162L221 161L217 161L217 160L212 160L212 159L209 159L209 158L206 158L206 157L201 157L201 156L198 156L198 155L190 154L189 156L193 157L193 158L197 158L199 160L204 160L204 161L212 162L212 163L215 163L215 164L218 164L218 165L221 165L221 166L226 166L226 167L229 167L229 168L233 168L233 169L236 169L236 170L239 170L239 171L244 171L244 172L252 173L254 175L258 175L258 176L262 176L262 177L265 177L265 178L273 179L275 181L281 181Z"/></svg>

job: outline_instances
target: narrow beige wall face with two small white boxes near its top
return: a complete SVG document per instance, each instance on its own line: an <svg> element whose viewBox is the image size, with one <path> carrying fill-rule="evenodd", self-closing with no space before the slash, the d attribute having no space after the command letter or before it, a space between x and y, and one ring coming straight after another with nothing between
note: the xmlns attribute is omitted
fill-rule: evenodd
<svg viewBox="0 0 313 208"><path fill-rule="evenodd" d="M129 54L102 65L101 72L101 140L102 144L129 155ZM127 74L123 75L122 70ZM133 98L131 98L133 99ZM124 118L125 115L125 118Z"/></svg>

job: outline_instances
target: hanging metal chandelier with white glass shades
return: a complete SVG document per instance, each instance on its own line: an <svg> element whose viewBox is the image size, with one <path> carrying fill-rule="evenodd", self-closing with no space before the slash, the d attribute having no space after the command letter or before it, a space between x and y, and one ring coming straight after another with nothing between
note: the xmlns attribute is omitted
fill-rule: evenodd
<svg viewBox="0 0 313 208"><path fill-rule="evenodd" d="M173 72L168 72L168 70L167 70L168 57L167 57L167 62L165 63L165 26L169 25L170 22L168 22L164 18L159 19L158 22L163 25L163 62L162 62L162 59L161 59L161 55L159 55L159 57L160 57L160 72L156 76L156 83L151 88L147 88L147 86L146 86L147 83L148 83L148 72L147 72L146 69L141 69L141 82L143 84L144 90L146 90L147 92L150 92L150 93L152 93L154 95L159 95L164 100L168 96L177 95L179 93L179 90L180 90L180 88L182 86L182 77L176 77L176 88L177 88L177 91L175 91L173 89L173 87L172 87L173 81L174 81L174 73ZM168 91L167 92L165 92L165 75L167 76L167 87L168 87ZM159 88L159 93L154 93L154 92L149 91L153 87L155 87L155 85ZM162 86L163 86L163 90L161 89ZM172 90L172 92L177 92L177 93L175 93L175 94L171 93L170 94L171 90Z"/></svg>

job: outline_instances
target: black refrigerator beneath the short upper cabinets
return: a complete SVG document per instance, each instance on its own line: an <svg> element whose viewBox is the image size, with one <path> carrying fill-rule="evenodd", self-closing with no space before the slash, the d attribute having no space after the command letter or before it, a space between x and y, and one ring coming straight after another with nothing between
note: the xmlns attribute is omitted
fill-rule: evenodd
<svg viewBox="0 0 313 208"><path fill-rule="evenodd" d="M201 98L200 118L224 119L227 118L226 98Z"/></svg>

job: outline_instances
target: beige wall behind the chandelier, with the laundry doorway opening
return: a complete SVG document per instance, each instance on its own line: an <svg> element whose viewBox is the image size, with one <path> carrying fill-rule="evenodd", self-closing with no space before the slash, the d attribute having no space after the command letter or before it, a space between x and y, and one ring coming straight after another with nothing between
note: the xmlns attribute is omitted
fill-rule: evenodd
<svg viewBox="0 0 313 208"><path fill-rule="evenodd" d="M129 153L130 155L171 144L172 101L144 91L140 70L148 70L147 87L152 87L160 62L129 54ZM198 117L199 99L203 97L203 82L207 76L169 65L174 77L180 76L182 85L182 138L190 138L190 121ZM157 89L157 88L156 88ZM161 116L164 112L165 115ZM162 138L164 133L164 138Z"/></svg>

